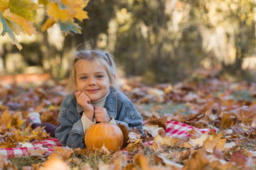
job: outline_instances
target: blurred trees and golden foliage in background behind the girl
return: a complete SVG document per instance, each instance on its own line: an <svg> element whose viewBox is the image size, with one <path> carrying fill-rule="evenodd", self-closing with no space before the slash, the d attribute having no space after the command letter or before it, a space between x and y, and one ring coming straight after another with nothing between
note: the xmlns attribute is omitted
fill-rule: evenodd
<svg viewBox="0 0 256 170"><path fill-rule="evenodd" d="M63 79L75 47L91 41L145 84L191 79L200 70L256 80L256 0L90 0L84 10L90 19L76 21L82 34L65 36L58 24L43 32L47 16L38 9L38 34L18 37L23 50L1 36L0 73Z"/></svg>

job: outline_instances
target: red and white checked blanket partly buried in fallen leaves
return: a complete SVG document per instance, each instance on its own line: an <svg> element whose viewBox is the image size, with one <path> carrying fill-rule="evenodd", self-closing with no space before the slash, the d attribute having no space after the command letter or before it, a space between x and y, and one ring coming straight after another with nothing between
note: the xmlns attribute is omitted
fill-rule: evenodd
<svg viewBox="0 0 256 170"><path fill-rule="evenodd" d="M166 135L169 137L184 137L189 136L188 130L191 130L193 126L186 125L184 123L176 121L168 121L166 123ZM209 129L198 129L201 132L210 132ZM153 141L145 142L143 145L147 147L151 145ZM31 153L36 152L38 149L46 150L43 154L44 156L49 156L53 152L53 147L61 147L60 142L55 138L50 138L48 140L43 140L38 143L32 144L33 147L18 147L18 148L0 148L0 154L4 157L28 157Z"/></svg>

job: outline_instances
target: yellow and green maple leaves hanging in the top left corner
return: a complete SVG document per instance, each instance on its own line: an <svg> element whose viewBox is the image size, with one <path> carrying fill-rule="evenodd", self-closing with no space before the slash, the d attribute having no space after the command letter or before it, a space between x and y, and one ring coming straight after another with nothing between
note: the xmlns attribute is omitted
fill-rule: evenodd
<svg viewBox="0 0 256 170"><path fill-rule="evenodd" d="M36 10L44 8L48 19L43 23L42 30L47 30L54 23L58 23L63 33L67 35L73 33L81 33L75 18L82 21L88 18L87 12L83 8L88 1L83 0L0 0L0 31L1 35L9 34L11 41L19 50L21 45L16 39L16 35L26 33L27 35L36 34L36 28L33 24L38 24L35 20Z"/></svg>

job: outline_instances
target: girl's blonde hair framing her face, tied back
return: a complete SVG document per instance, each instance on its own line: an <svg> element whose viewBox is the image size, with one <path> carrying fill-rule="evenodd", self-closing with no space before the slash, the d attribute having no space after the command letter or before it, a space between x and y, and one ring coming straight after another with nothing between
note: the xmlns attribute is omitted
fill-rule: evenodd
<svg viewBox="0 0 256 170"><path fill-rule="evenodd" d="M114 89L119 90L119 85L115 79L116 76L116 66L114 64L113 56L110 55L109 52L103 52L100 50L80 50L75 52L75 57L73 62L71 62L70 67L70 77L68 79L67 91L68 93L74 92L76 90L76 70L78 61L86 60L86 61L99 61L105 67L107 71L107 75L110 78L110 84L114 87Z"/></svg>

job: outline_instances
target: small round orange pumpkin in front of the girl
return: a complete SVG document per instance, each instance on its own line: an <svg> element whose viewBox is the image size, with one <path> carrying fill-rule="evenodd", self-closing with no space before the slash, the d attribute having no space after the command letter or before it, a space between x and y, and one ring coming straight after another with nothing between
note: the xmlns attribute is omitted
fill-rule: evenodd
<svg viewBox="0 0 256 170"><path fill-rule="evenodd" d="M103 144L111 151L122 148L124 135L122 130L114 124L96 123L85 132L85 145L87 148L101 148Z"/></svg>

